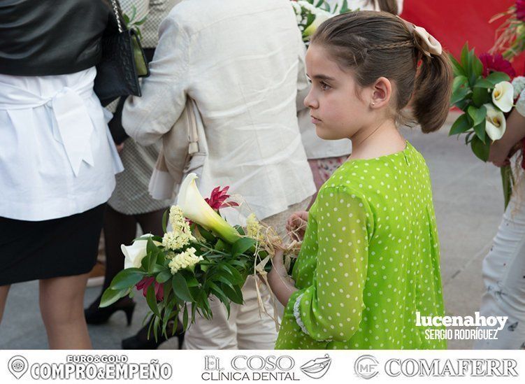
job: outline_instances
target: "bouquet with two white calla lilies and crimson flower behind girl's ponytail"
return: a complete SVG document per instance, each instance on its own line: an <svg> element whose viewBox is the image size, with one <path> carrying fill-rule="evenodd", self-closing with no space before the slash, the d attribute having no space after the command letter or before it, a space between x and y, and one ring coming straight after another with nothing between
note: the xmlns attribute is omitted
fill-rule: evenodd
<svg viewBox="0 0 525 384"><path fill-rule="evenodd" d="M451 56L454 69L451 104L463 115L454 122L449 135L465 134L474 154L484 162L489 159L490 145L505 133L505 115L515 98L511 77L515 76L510 62L501 55L477 57L474 50L463 46L461 59ZM512 194L510 166L501 168L505 208Z"/></svg>

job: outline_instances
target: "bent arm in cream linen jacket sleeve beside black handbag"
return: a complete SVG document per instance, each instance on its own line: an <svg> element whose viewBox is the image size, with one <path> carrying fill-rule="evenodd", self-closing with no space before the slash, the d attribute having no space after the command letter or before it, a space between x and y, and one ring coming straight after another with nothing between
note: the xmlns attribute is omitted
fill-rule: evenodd
<svg viewBox="0 0 525 384"><path fill-rule="evenodd" d="M160 24L150 72L141 85L142 97L129 97L122 113L127 134L142 145L166 134L185 108L190 81L189 36L175 15Z"/></svg>

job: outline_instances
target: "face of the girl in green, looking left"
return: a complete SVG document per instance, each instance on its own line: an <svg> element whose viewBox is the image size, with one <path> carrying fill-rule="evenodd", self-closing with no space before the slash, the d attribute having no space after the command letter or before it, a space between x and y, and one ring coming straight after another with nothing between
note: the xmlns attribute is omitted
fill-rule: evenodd
<svg viewBox="0 0 525 384"><path fill-rule="evenodd" d="M373 124L373 88L358 87L352 71L341 70L322 46L311 44L308 48L306 73L312 87L304 104L310 108L317 136L326 140L352 138Z"/></svg>

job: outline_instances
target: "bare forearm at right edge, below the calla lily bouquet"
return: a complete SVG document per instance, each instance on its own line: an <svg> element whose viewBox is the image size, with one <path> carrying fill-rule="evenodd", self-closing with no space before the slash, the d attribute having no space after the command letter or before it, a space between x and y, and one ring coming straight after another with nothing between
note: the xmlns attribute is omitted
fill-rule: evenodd
<svg viewBox="0 0 525 384"><path fill-rule="evenodd" d="M509 164L508 157L512 147L524 137L525 118L516 109L513 109L507 119L505 134L490 146L489 162L496 166Z"/></svg>

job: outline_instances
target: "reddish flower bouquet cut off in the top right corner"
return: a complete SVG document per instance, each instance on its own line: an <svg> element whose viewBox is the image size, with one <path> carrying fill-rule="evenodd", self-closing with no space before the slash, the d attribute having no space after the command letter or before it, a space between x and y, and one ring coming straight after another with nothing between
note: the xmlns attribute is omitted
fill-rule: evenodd
<svg viewBox="0 0 525 384"><path fill-rule="evenodd" d="M513 6L492 17L490 22L505 17L496 30L496 43L491 53L503 52L503 57L512 60L525 50L525 0L517 0Z"/></svg>

